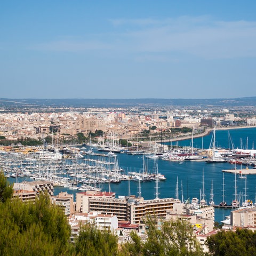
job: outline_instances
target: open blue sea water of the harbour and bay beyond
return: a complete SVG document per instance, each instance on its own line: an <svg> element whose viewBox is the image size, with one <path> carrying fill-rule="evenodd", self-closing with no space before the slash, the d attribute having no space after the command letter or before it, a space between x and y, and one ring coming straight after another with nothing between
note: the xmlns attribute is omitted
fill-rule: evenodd
<svg viewBox="0 0 256 256"><path fill-rule="evenodd" d="M256 128L245 129L232 129L232 130L217 130L215 132L215 147L221 148L242 148L253 149L254 140L256 135ZM210 147L212 141L212 133L202 138L194 138L193 145L196 148L207 149ZM175 146L191 146L191 139L182 140L177 142L167 142ZM87 150L87 149L85 149ZM97 153L97 149L94 149ZM102 153L102 152L101 152ZM84 156L94 157L97 156ZM141 172L143 169L142 155L128 155L117 154L119 167L128 172ZM234 165L229 163L212 163L205 162L184 161L170 162L162 159L144 158L148 172L154 172L155 164L157 164L158 173L164 174L166 180L158 182L158 197L169 198L177 197L182 200L182 195L185 200L192 199L193 197L200 198L202 189L204 187L204 195L207 202L210 201L211 183L213 183L213 200L215 204L219 204L223 197L223 183L224 195L227 204L231 204L235 199L235 174L224 173L222 170L234 169ZM238 166L236 166L238 169ZM240 166L239 166L240 167ZM242 166L245 168L245 166ZM9 178L10 182L15 182L15 178ZM19 182L22 181L19 178ZM178 184L178 186L177 186ZM122 181L121 183L103 183L103 191L112 191L118 196L128 196L139 194L138 181ZM178 190L177 190L178 187ZM145 199L156 198L156 183L155 181L140 182L141 196ZM245 191L246 188L246 191ZM130 190L129 190L130 189ZM54 195L59 194L61 191L67 191L69 194L74 195L81 193L79 190L69 190L66 187L54 187ZM250 199L253 203L256 200L256 175L247 175L247 179L237 178L237 194L241 196L241 201ZM215 208L215 221L220 222L225 219L226 215L230 214L231 209L217 209Z"/></svg>

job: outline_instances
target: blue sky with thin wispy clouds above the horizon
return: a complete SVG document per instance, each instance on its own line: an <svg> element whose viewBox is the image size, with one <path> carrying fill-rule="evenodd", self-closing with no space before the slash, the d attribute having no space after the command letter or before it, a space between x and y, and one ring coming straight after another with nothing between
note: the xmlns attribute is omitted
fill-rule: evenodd
<svg viewBox="0 0 256 256"><path fill-rule="evenodd" d="M0 98L237 98L255 83L255 0L0 2Z"/></svg>

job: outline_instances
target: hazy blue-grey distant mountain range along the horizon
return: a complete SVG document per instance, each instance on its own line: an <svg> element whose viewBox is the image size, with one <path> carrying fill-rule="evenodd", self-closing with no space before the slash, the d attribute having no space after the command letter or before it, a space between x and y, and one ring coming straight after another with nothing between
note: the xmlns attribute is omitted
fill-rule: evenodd
<svg viewBox="0 0 256 256"><path fill-rule="evenodd" d="M0 99L0 108L22 107L106 107L106 108L162 108L162 107L255 107L256 97L236 99Z"/></svg>

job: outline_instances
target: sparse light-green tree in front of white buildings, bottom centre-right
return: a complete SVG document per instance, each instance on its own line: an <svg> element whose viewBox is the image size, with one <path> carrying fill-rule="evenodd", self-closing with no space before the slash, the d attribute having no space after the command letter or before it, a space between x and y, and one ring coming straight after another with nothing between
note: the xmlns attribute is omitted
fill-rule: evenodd
<svg viewBox="0 0 256 256"><path fill-rule="evenodd" d="M159 222L161 225L158 226ZM147 217L145 225L148 235L146 242L142 243L141 238L132 233L132 242L124 245L124 250L130 255L203 255L188 221L159 221L157 217Z"/></svg>

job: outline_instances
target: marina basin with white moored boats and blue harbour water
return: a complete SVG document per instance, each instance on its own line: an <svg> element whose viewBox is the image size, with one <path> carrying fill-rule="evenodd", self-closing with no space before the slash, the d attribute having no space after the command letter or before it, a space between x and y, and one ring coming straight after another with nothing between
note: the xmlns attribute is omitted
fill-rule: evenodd
<svg viewBox="0 0 256 256"><path fill-rule="evenodd" d="M255 129L249 130L255 131ZM218 132L216 132L217 138L219 138ZM74 157L63 157L61 160L40 159L35 158L34 155L22 156L18 153L1 154L1 167L11 182L52 180L55 185L55 195L60 191L67 191L75 198L76 193L99 190L114 191L117 197L130 194L154 199L157 182L159 198L178 197L181 202L201 198L204 170L204 200L209 204L211 199L214 199L215 221L220 222L235 209L231 206L231 202L235 199L235 175L238 178L241 165L236 165L237 170L232 170L233 172L223 172L223 170L231 170L230 167L234 165L228 162L207 164L202 159L165 161L161 158L125 153L107 156L108 152L102 154L97 148L93 148L93 154L87 154L89 151L89 146L79 146L77 147L79 154ZM225 174L225 188L222 185L224 183L222 174ZM246 178L237 179L236 194L241 203L244 202L245 195L254 203L256 177L248 175ZM225 195L222 193L223 190ZM222 201L227 202L227 205L219 205Z"/></svg>

